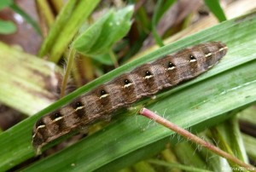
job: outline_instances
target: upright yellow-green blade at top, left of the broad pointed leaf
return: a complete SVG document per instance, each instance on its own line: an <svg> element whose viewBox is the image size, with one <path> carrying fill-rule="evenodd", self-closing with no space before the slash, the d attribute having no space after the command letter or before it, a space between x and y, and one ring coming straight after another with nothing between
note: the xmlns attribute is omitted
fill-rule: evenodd
<svg viewBox="0 0 256 172"><path fill-rule="evenodd" d="M49 54L49 60L57 62L65 52L79 27L83 25L99 0L68 1L55 20L49 36L45 38L39 56Z"/></svg>

